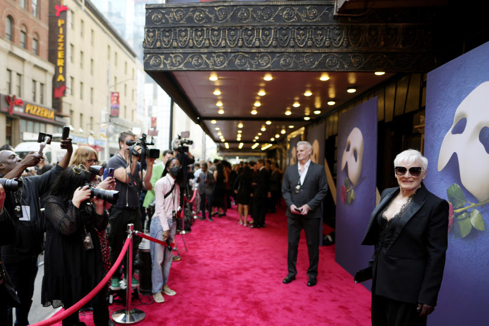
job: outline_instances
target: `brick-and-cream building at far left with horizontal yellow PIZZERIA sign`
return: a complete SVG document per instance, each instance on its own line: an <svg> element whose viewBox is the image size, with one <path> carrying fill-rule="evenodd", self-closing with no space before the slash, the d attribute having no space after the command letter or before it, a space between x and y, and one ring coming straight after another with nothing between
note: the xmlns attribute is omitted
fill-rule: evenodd
<svg viewBox="0 0 489 326"><path fill-rule="evenodd" d="M0 146L37 140L66 122L52 108L47 1L0 1Z"/></svg>

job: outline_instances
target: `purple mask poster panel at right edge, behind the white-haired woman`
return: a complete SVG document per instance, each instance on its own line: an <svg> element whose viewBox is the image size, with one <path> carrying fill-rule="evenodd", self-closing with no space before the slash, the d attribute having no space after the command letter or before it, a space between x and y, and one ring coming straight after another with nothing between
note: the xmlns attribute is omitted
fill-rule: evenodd
<svg viewBox="0 0 489 326"><path fill-rule="evenodd" d="M450 203L430 325L486 325L489 305L489 43L428 73L425 185Z"/></svg>

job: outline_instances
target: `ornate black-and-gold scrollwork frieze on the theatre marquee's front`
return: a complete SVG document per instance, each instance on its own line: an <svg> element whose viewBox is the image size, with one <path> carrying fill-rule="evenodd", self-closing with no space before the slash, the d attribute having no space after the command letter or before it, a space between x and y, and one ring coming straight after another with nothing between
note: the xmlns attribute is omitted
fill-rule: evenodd
<svg viewBox="0 0 489 326"><path fill-rule="evenodd" d="M332 2L146 6L146 70L426 71L429 13L336 17Z"/></svg>

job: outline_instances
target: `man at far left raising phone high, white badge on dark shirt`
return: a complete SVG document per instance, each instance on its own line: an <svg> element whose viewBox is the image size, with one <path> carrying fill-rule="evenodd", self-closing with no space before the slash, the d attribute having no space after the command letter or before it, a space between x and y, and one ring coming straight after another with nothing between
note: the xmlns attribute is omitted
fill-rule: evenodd
<svg viewBox="0 0 489 326"><path fill-rule="evenodd" d="M18 326L29 324L37 260L43 250L44 226L39 198L48 192L56 177L68 166L73 152L71 139L62 140L61 148L66 149L66 154L55 167L40 176L23 177L22 189L7 193L4 204L15 224L16 240L2 246L2 260L20 300L20 307L15 311ZM30 152L22 160L13 151L0 151L0 175L7 179L18 178L26 168L36 166L41 158L39 153ZM12 309L9 309L9 324L11 314Z"/></svg>

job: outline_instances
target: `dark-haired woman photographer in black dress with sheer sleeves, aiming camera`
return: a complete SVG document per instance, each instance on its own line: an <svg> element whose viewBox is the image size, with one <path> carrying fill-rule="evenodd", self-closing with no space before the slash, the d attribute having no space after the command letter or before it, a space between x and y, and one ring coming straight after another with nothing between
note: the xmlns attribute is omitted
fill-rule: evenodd
<svg viewBox="0 0 489 326"><path fill-rule="evenodd" d="M41 291L44 307L71 307L106 274L97 233L107 226L104 204L110 206L110 203L92 195L88 182L94 178L84 165L73 165L56 179L46 199L46 250ZM97 187L111 188L112 180L106 179ZM108 325L107 290L101 290L90 301L96 326ZM76 311L63 320L63 326L79 322Z"/></svg>

